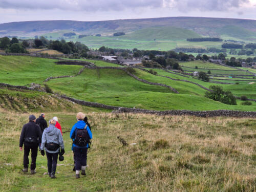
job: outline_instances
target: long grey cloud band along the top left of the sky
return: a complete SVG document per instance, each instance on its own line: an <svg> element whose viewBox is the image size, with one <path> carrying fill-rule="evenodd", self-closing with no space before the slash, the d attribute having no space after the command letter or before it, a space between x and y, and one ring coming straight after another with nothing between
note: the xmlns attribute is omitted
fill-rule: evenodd
<svg viewBox="0 0 256 192"><path fill-rule="evenodd" d="M3 9L41 9L41 10L71 10L71 11L121 11L124 9L162 7L163 0L1 0Z"/></svg>

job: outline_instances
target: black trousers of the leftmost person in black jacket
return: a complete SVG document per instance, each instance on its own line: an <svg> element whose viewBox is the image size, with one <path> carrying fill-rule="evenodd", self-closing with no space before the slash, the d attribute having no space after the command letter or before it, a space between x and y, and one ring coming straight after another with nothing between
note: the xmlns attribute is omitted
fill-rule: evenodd
<svg viewBox="0 0 256 192"><path fill-rule="evenodd" d="M23 158L23 165L24 168L29 167L29 152L31 150L31 164L30 164L30 169L34 170L35 169L35 162L36 162L36 157L37 157L37 147L38 144L33 144L33 145L24 145L24 158Z"/></svg>

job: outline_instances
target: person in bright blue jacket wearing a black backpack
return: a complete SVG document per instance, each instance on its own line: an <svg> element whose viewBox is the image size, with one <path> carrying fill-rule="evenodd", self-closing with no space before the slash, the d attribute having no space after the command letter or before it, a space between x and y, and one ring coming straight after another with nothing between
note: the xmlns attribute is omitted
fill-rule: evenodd
<svg viewBox="0 0 256 192"><path fill-rule="evenodd" d="M84 114L79 112L76 115L77 122L72 127L70 132L70 138L73 140L72 148L74 151L75 159L75 170L76 178L80 178L80 170L82 170L81 175L86 175L87 167L87 150L89 147L88 141L93 138L92 132L89 126L83 121ZM83 134L86 136L83 140ZM82 138L79 140L79 138Z"/></svg>

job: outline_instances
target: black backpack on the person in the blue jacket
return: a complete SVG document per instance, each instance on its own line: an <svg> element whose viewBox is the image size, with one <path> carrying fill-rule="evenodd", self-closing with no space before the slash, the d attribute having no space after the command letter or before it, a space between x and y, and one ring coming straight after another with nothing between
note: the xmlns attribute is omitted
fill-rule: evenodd
<svg viewBox="0 0 256 192"><path fill-rule="evenodd" d="M84 127L82 130L81 129L75 129L75 140L74 144L78 146L87 146L87 144L91 143L91 138L88 134L88 131L86 127Z"/></svg>

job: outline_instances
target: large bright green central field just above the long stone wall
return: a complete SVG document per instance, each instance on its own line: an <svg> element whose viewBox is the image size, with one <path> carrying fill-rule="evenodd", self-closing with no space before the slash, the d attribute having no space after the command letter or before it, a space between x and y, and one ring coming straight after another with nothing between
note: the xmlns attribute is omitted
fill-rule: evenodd
<svg viewBox="0 0 256 192"><path fill-rule="evenodd" d="M181 94L142 83L121 70L111 69L86 69L77 77L53 79L48 84L54 91L77 99L130 108L135 106L155 110L256 110L256 105L232 106L207 99L203 96L205 90L195 84L188 86L186 82L153 76L140 70L136 70L136 75L152 82L166 83Z"/></svg>

